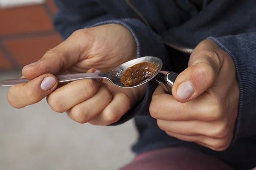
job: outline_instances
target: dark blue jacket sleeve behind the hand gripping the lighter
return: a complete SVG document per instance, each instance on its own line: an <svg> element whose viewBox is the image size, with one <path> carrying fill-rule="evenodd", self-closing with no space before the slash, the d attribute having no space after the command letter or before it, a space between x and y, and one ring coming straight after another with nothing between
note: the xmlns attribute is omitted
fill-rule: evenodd
<svg viewBox="0 0 256 170"><path fill-rule="evenodd" d="M233 142L256 135L256 32L209 37L230 54L239 81L239 113Z"/></svg>

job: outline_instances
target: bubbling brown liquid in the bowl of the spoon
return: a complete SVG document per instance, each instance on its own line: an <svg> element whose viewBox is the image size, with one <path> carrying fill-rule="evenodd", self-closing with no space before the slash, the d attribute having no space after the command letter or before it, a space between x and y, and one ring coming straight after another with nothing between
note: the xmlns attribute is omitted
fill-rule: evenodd
<svg viewBox="0 0 256 170"><path fill-rule="evenodd" d="M121 83L125 87L138 85L145 79L151 78L156 71L154 62L139 62L124 71L121 76Z"/></svg>

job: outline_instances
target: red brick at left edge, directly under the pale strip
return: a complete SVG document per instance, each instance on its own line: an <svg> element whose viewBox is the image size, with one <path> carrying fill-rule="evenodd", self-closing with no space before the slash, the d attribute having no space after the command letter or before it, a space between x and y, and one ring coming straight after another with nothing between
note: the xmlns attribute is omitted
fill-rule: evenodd
<svg viewBox="0 0 256 170"><path fill-rule="evenodd" d="M0 8L0 35L52 30L52 20L41 5Z"/></svg>

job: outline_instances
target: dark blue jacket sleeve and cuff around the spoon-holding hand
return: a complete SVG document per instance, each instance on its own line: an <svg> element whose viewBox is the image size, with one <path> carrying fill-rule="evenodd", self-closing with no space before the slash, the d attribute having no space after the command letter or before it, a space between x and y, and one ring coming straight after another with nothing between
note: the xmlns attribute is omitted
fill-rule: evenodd
<svg viewBox="0 0 256 170"><path fill-rule="evenodd" d="M168 53L163 45L160 37L148 28L140 20L132 18L114 18L107 14L97 3L90 0L76 0L82 1L80 6L83 6L82 12L77 11L72 1L68 3L61 3L60 0L55 0L59 9L55 16L54 25L57 31L66 39L74 31L81 28L89 28L104 24L116 23L125 26L134 37L137 44L137 57L154 56L159 57L163 61L162 70L170 70L168 68ZM86 3L85 3L86 2ZM76 3L78 4L78 3ZM112 125L122 124L135 115L148 116L151 96L157 88L157 82L153 79L146 85L146 93L140 103L134 108L131 108L125 113L122 118Z"/></svg>

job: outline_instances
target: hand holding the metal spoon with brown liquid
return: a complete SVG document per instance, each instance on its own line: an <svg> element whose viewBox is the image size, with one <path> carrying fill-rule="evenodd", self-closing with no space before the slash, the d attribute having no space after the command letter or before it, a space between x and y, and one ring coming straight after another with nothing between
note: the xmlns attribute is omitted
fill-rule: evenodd
<svg viewBox="0 0 256 170"><path fill-rule="evenodd" d="M23 76L31 81L12 86L8 101L14 108L23 108L47 96L53 111L67 112L76 122L112 124L142 99L145 85L124 89L105 80L83 79L58 86L53 74L84 73L90 68L111 71L136 57L136 42L124 26L107 24L75 31L38 62L23 68Z"/></svg>

